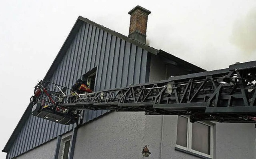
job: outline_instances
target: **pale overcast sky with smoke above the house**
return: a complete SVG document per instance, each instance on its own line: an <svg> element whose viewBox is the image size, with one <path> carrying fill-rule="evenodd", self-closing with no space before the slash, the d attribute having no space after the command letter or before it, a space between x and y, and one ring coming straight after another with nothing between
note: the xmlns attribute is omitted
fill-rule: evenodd
<svg viewBox="0 0 256 159"><path fill-rule="evenodd" d="M78 16L127 36L136 5L152 12L147 38L156 49L206 70L256 59L255 0L2 0L1 150Z"/></svg>

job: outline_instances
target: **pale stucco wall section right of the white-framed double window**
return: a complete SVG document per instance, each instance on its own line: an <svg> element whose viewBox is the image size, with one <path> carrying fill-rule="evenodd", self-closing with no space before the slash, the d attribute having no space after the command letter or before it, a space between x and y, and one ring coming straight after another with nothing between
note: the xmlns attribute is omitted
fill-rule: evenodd
<svg viewBox="0 0 256 159"><path fill-rule="evenodd" d="M217 123L216 130L216 159L256 159L254 124Z"/></svg>

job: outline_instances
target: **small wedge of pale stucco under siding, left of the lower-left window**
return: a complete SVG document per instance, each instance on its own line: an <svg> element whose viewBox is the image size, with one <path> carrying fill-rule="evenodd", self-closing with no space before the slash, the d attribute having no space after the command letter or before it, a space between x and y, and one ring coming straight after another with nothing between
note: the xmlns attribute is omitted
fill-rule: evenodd
<svg viewBox="0 0 256 159"><path fill-rule="evenodd" d="M57 139L53 139L48 143L45 143L31 151L28 151L20 156L17 159L53 159L55 148L56 148Z"/></svg>

